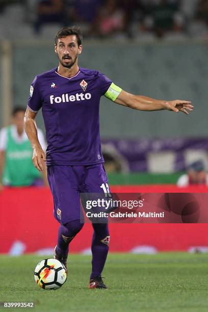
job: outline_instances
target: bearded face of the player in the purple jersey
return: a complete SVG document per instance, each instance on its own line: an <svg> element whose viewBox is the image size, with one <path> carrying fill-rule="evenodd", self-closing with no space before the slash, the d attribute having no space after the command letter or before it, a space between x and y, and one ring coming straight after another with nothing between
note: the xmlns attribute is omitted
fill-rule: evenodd
<svg viewBox="0 0 208 312"><path fill-rule="evenodd" d="M75 35L67 36L58 39L57 45L55 45L55 52L61 65L71 68L77 61L78 55L82 52L82 45L78 46Z"/></svg>

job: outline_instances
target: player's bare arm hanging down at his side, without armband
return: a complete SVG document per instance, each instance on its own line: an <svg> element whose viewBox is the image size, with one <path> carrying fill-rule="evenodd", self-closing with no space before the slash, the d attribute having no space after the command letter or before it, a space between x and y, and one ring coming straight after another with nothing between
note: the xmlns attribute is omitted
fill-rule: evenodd
<svg viewBox="0 0 208 312"><path fill-rule="evenodd" d="M44 166L41 160L45 162L46 157L45 152L38 140L37 126L35 122L36 115L37 113L34 113L29 108L27 108L24 115L24 129L33 148L33 164L39 171L43 171Z"/></svg>

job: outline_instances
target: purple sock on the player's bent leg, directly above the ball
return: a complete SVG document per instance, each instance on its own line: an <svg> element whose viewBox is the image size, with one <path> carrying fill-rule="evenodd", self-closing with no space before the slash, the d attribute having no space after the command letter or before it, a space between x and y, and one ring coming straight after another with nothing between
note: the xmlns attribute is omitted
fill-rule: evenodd
<svg viewBox="0 0 208 312"><path fill-rule="evenodd" d="M58 233L57 252L67 256L69 252L69 243L82 229L83 223L80 220L73 220L64 225L60 225Z"/></svg>

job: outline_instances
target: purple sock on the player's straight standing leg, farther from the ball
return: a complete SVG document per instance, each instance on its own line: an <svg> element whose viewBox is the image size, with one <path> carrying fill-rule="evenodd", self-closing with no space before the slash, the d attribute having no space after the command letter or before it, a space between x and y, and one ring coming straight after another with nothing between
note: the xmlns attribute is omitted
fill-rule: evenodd
<svg viewBox="0 0 208 312"><path fill-rule="evenodd" d="M109 251L109 229L108 224L93 224L94 233L92 237L92 273L90 278L101 276Z"/></svg>

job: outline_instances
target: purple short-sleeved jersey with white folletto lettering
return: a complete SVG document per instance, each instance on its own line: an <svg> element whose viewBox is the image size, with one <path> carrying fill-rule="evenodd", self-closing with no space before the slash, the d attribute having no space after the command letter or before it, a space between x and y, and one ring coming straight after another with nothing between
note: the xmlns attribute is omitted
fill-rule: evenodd
<svg viewBox="0 0 208 312"><path fill-rule="evenodd" d="M96 70L80 68L64 77L57 68L37 75L28 107L42 108L47 165L103 163L99 136L99 101L112 81Z"/></svg>

